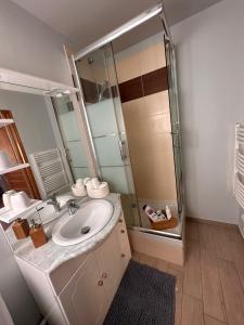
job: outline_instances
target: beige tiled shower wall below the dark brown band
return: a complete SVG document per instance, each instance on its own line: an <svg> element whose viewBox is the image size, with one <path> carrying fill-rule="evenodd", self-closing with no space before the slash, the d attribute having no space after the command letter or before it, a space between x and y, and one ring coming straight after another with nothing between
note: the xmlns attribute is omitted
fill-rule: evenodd
<svg viewBox="0 0 244 325"><path fill-rule="evenodd" d="M176 202L168 92L123 104L139 199Z"/></svg>

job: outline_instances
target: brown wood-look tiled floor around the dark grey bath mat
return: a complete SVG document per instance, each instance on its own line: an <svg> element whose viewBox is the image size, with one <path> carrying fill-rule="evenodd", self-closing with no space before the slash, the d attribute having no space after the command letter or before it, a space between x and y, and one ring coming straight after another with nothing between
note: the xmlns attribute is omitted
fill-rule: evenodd
<svg viewBox="0 0 244 325"><path fill-rule="evenodd" d="M234 226L187 223L185 265L133 259L177 276L176 325L244 325L244 240Z"/></svg>

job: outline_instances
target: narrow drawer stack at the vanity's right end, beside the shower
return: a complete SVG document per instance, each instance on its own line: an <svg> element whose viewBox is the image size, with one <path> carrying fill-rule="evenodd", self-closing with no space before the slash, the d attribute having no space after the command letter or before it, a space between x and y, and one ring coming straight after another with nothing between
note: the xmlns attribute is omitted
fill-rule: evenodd
<svg viewBox="0 0 244 325"><path fill-rule="evenodd" d="M121 257L124 271L125 271L129 260L131 259L131 250L130 250L130 244L129 244L126 222L123 212L118 219L118 224L115 227L115 232L116 232L117 240L119 243L120 257Z"/></svg>

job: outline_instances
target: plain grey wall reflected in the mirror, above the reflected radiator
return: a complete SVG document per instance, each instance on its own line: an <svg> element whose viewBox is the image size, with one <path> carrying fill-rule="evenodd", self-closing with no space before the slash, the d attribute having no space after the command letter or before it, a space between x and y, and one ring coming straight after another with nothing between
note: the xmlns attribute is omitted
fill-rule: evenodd
<svg viewBox="0 0 244 325"><path fill-rule="evenodd" d="M27 155L57 146L43 96L0 90L0 109L12 110Z"/></svg>

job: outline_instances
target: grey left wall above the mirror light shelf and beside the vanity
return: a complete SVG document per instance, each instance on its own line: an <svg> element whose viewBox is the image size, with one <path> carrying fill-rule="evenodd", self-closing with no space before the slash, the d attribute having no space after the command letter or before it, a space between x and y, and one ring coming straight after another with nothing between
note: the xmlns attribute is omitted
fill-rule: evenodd
<svg viewBox="0 0 244 325"><path fill-rule="evenodd" d="M0 67L72 84L63 53L64 42L68 41L13 2L0 0ZM0 262L0 291L14 323L36 325L38 309L1 230Z"/></svg>

